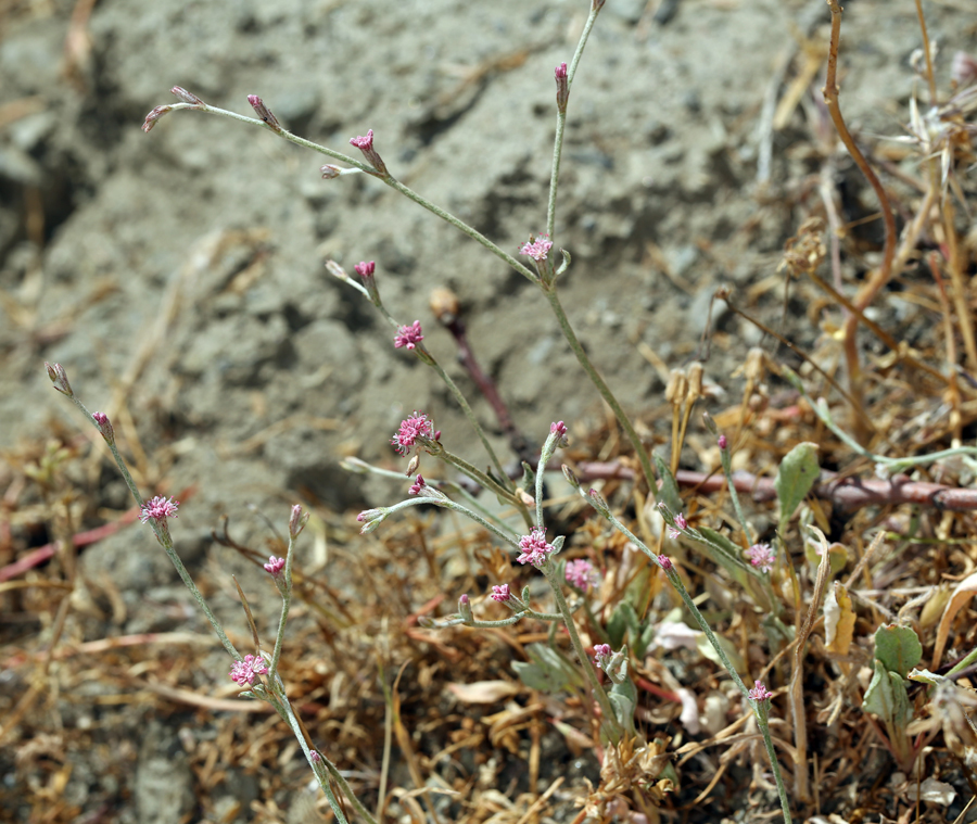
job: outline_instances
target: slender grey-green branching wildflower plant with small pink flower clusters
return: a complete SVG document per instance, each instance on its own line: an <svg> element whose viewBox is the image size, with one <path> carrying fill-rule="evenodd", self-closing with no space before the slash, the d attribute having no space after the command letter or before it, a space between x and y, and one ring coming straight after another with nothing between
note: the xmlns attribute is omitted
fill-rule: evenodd
<svg viewBox="0 0 977 824"><path fill-rule="evenodd" d="M645 444L638 436L631 418L625 414L607 383L591 363L583 344L578 339L576 333L571 327L561 306L557 289L560 276L567 271L571 265L570 255L567 251L557 246L555 242L556 204L563 147L563 129L572 84L587 38L597 21L597 16L602 5L604 0L592 0L586 24L571 60L569 63L561 62L554 69L554 79L556 81L556 128L546 218L545 223L541 226L533 227L537 231L528 233L528 240L518 250L519 256L526 258L526 261L531 263L525 263L506 252L472 227L466 225L454 215L431 203L421 194L402 183L394 176L394 170L391 169L380 154L378 147L382 143L382 136L375 135L372 129L367 129L365 135L350 139L350 144L360 152L363 156L363 161L360 161L343 152L319 145L291 134L282 127L268 104L256 94L250 94L248 97L248 102L257 116L249 117L212 106L193 92L181 87L174 87L172 89L172 92L179 99L179 102L153 109L145 117L143 129L149 132L156 127L161 118L165 115L182 110L220 115L223 117L257 126L258 128L271 131L290 142L296 143L297 145L325 154L330 160L342 164L334 165L330 163L323 165L321 167L323 179L337 180L338 178L356 174L370 175L395 191L404 194L411 201L418 203L439 218L465 232L494 255L505 261L515 271L519 272L540 289L544 299L549 304L560 330L576 356L582 369L595 385L602 400L612 409L618 424L631 443L635 458L640 467L643 482L648 492L650 492L651 496L655 498L664 496L668 500L674 500L674 496L671 494L672 487L674 487L674 479L669 476L667 464L664 464L659 456L655 456L659 470L658 476L662 483L661 489L659 489L659 485L656 482L656 472L652 469L651 455L649 455ZM544 230L538 231L538 229ZM616 649L611 644L604 641L602 635L606 635L606 633L601 626L601 621L598 620L588 604L588 597L595 588L599 576L593 569L593 565L588 561L581 559L575 559L566 563L561 561L559 556L564 547L566 537L563 535L553 535L547 529L546 518L544 517L544 472L556 451L568 445L566 424L562 421L551 424L549 434L542 447L537 465L531 467L528 464L523 464L522 479L519 483L516 483L507 474L502 460L495 454L481 422L477 419L461 390L442 368L435 355L428 348L421 321L418 319L407 322L398 320L384 305L381 300L379 286L380 278L377 274L376 264L371 261L363 261L357 264L354 267L354 271L358 280L351 277L333 261L328 262L327 268L335 278L357 290L382 315L393 331L392 342L394 347L404 350L405 353L418 358L421 363L435 371L439 378L448 388L454 401L458 404L468 419L488 461L488 467L483 470L479 468L475 462L449 451L449 448L442 443L441 433L434 428L431 410L415 410L410 416L403 420L391 439L391 444L394 449L402 457L410 458L407 476L413 477L413 482L407 490L408 496L391 506L377 507L360 512L358 521L361 523L363 534L373 532L390 516L405 509L417 506L435 506L462 515L479 524L485 532L492 535L496 542L508 547L516 562L523 565L525 568L532 568L542 574L549 586L551 597L551 607L549 611L543 611L533 606L529 586L524 587L522 593L517 596L510 591L507 583L497 583L492 585L488 598L511 610L512 614L508 618L502 620L480 620L475 618L472 601L467 594L464 594L458 600L457 614L449 617L447 620L440 622L432 620L429 623L435 626L464 625L473 630L484 630L509 626L525 619L542 621L549 623L555 627L560 627L566 632L566 635L570 641L576 659L575 665L579 668L579 673L582 673L583 677L580 679L578 675L578 680L580 683L585 683L587 685L588 692L593 696L593 701L598 708L597 714L599 717L600 736L607 745L607 763L620 765L625 761L634 760L636 758L638 761L646 764L646 766L643 768L643 773L640 775L642 782L647 784L658 778L665 770L668 757L662 757L661 752L656 749L655 743L646 743L642 734L635 730L634 720L635 709L637 707L637 689L631 674L633 662L632 652L629 650L627 645L614 645L618 646ZM340 787L342 795L350 800L357 813L359 813L364 820L372 823L373 817L366 811L363 804L357 801L351 791L348 784L337 770L333 762L326 758L321 750L317 750L313 747L308 733L302 726L291 702L286 696L284 686L278 674L282 639L291 601L293 548L304 524L301 509L295 507L292 510L289 523L289 547L286 557L280 558L272 556L265 565L265 569L272 576L282 598L281 618L274 650L269 654L262 649L257 632L254 630L252 621L255 649L253 652L241 655L227 638L227 635L208 608L203 595L196 588L173 549L173 538L169 534L168 519L176 517L176 502L158 497L153 498L149 503L143 502L118 454L118 451L115 448L111 422L105 416L100 416L99 414L92 416L85 410L85 407L81 406L80 402L75 398L74 393L67 383L64 370L60 366L49 366L48 371L55 388L81 408L89 419L92 420L93 424L99 428L99 431L112 449L112 454L115 457L119 471L125 477L132 495L136 497L137 502L139 502L140 506L143 507L143 522L149 523L153 529L158 542L170 557L181 579L190 588L214 631L232 657L233 664L230 670L230 677L237 684L246 687L242 695L268 701L289 724L302 746L318 783L327 794L338 821L345 824L346 819L342 804L333 793L330 782L334 782ZM725 448L725 444L723 448ZM444 462L451 469L466 476L479 487L494 495L504 507L508 508L508 511L504 510L499 512L497 509L490 509L490 507L485 506L484 503L479 499L475 493L472 493L458 484L443 481L434 482L426 479L420 473L416 473L421 453L428 454L432 458ZM403 476L399 473L376 469L363 461L348 460L346 466L353 468L355 471L376 471L388 477L403 479ZM733 683L741 693L744 707L751 710L756 715L771 760L773 774L776 779L784 821L789 824L790 813L787 794L773 750L767 723L770 699L773 694L764 687L761 681L756 681L752 689L746 687L740 675L737 673L736 668L726 655L723 645L720 644L708 621L686 591L682 575L680 574L678 566L673 562L672 558L665 554L652 550L646 542L638 538L612 512L609 505L596 491L584 491L580 484L576 483L575 478L569 470L566 470L564 474L571 485L580 492L589 506L607 519L616 530L626 536L635 547L648 556L651 563L674 587L675 592L691 613L694 620L701 627L715 652L716 659L727 670ZM452 495L448 493L452 493ZM674 507L669 507L668 500L661 500L660 510L663 521L672 535L675 537L684 536L701 543L707 547L712 546L715 543L716 540L708 533L689 527L688 521L681 512L673 511ZM744 524L745 534L749 535L749 530L746 527L745 518L743 517L738 503L736 506L737 515L740 517L740 521ZM510 514L515 517L509 518ZM723 550L725 549L726 547L723 546ZM759 556L754 554L754 557ZM770 568L767 560L767 556L760 558L760 566L763 572L754 571L756 575L767 574ZM741 559L740 563L743 563L744 567L747 567ZM772 563L772 560L770 563ZM769 588L769 583L766 586ZM243 593L241 593L241 595L243 600ZM244 606L249 620L251 621L246 600L244 601ZM578 620L581 616L586 617L589 627L601 637L601 643L594 646L589 651L584 645L580 627L578 626ZM555 633L551 633L550 638L550 652L559 660L561 654L556 650L556 643L554 639ZM600 674L601 672L604 673L602 676ZM610 682L609 688L605 687L605 684L601 682L602 677ZM630 755L625 757L625 753ZM642 786L644 786L644 784ZM596 797L600 799L599 803L595 801L594 803L596 806L593 810L591 809L591 806L588 806L588 814L604 815L606 813L604 802L613 797L613 791L608 790L607 793L609 793L609 795L601 795L601 793L604 793L604 790L596 794Z"/></svg>

